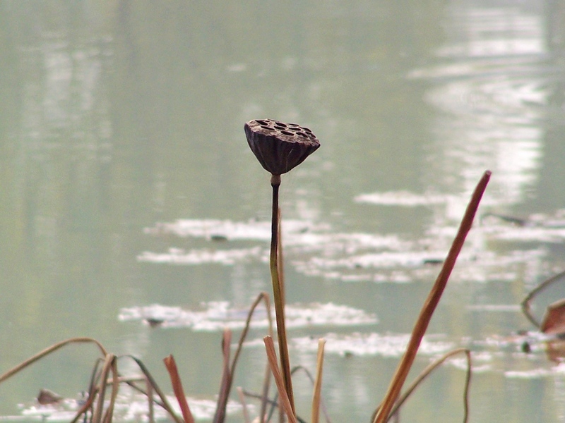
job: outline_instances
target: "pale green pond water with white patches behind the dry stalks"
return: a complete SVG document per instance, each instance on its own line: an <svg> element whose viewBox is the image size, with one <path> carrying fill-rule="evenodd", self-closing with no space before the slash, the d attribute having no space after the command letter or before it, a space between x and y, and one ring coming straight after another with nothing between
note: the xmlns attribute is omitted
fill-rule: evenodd
<svg viewBox="0 0 565 423"><path fill-rule="evenodd" d="M280 201L291 364L313 371L326 338L333 421L369 422L487 169L410 377L470 348L470 421L564 421L565 364L520 309L565 269L563 3L3 1L0 23L0 372L88 336L170 392L172 353L205 416L223 328L270 292L269 176L243 125L275 118L321 141ZM259 311L235 381L251 392L265 334ZM71 346L13 376L0 415L40 388L78 398L96 357ZM460 421L464 369L448 361L402 421Z"/></svg>

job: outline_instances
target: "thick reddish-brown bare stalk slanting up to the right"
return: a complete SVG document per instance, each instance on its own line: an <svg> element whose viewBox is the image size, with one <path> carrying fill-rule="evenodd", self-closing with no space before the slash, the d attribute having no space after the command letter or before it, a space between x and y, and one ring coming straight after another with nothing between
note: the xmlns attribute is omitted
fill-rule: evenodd
<svg viewBox="0 0 565 423"><path fill-rule="evenodd" d="M471 200L465 210L456 238L453 240L444 265L442 266L441 271L436 278L436 282L422 306L420 316L416 321L414 329L412 329L412 336L410 336L410 341L408 342L406 351L402 360L400 360L400 363L398 364L396 373L391 380L390 386L388 386L388 391L386 392L379 410L376 412L373 423L386 422L394 403L396 403L400 389L402 389L406 376L408 376L408 372L410 371L410 367L412 367L412 363L414 362L417 350L420 347L420 343L422 342L422 338L424 337L429 321L432 319L432 314L439 303L441 295L444 293L444 289L447 285L449 276L451 275L451 271L453 270L453 266L455 266L461 247L463 247L465 238L471 229L472 221L475 218L477 208L479 207L484 190L487 188L490 176L490 171L484 172L482 178L477 184L477 187L475 188L475 191L472 193Z"/></svg>

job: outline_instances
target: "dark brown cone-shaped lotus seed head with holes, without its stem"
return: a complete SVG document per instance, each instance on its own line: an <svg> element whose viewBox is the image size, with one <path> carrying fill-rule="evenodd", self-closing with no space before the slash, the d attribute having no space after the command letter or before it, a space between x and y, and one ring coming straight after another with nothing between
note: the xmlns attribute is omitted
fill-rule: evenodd
<svg viewBox="0 0 565 423"><path fill-rule="evenodd" d="M244 129L251 151L273 175L287 173L320 147L316 135L297 123L255 119Z"/></svg>

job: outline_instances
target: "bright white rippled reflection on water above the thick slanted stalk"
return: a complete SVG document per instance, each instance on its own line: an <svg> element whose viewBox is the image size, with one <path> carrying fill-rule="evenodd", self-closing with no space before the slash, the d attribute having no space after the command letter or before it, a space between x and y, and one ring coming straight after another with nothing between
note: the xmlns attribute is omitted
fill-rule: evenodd
<svg viewBox="0 0 565 423"><path fill-rule="evenodd" d="M492 168L489 202L516 204L535 186L541 164L542 17L480 4L453 6L451 13L451 42L439 50L446 65L428 73L439 82L428 99L441 111L434 171L470 192L482 168Z"/></svg>

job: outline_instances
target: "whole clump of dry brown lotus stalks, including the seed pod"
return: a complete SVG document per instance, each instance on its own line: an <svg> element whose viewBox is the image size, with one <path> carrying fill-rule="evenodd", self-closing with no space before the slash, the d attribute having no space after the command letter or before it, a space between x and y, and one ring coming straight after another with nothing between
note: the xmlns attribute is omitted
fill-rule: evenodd
<svg viewBox="0 0 565 423"><path fill-rule="evenodd" d="M268 333L263 338L266 346L267 355L267 368L265 371L263 390L260 394L246 393L242 389L238 389L239 398L242 400L242 410L246 422L250 421L249 413L247 412L246 400L251 398L258 398L261 403L259 408L258 417L256 421L264 423L271 422L278 415L280 421L286 417L288 422L304 422L302 417L299 417L295 411L293 392L292 392L292 372L290 360L288 355L287 333L285 330L285 284L283 272L283 249L280 243L280 209L278 207L278 188L280 186L280 176L287 171L290 171L295 166L299 165L306 159L309 154L316 151L319 147L319 141L316 136L309 130L294 123L282 123L270 119L257 119L249 121L245 124L245 133L247 141L251 150L256 155L257 159L267 171L271 173L270 184L273 188L273 209L272 209L272 222L271 222L271 243L270 243L270 274L273 284L273 302L275 308L275 321L278 340L278 356L275 350L275 343L273 341L273 324L270 317L270 298L267 293L259 293L254 303L249 309L249 314L246 319L246 325L239 340L237 341L237 348L235 348L232 356L232 333L226 329L222 336L222 357L221 364L221 383L220 391L218 393L218 401L215 409L215 416L213 417L214 423L225 422L227 417L227 403L230 394L232 393L232 382L237 367L239 355L242 351L244 340L249 331L249 324L253 314L258 305L265 306L269 319ZM405 354L398 364L396 374L388 387L388 391L374 411L371 421L373 423L388 422L391 417L396 415L399 408L405 403L405 400L410 396L412 391L425 379L425 377L432 372L436 367L440 366L445 360L453 355L464 354L468 362L468 373L465 379L464 388L464 422L468 419L468 387L470 383L470 351L460 348L447 353L443 357L430 364L424 372L417 377L417 379L401 393L408 372L412 367L412 363L417 355L417 350L427 330L429 321L432 319L434 309L439 303L444 288L448 282L448 278L456 263L461 247L465 242L465 237L470 231L472 221L475 218L477 208L480 200L489 182L490 172L486 171L480 179L475 192L473 192L468 204L468 208L460 223L460 227L456 238L453 240L451 249L443 262L439 276L437 276L434 286L430 291L427 299L424 301L420 316L417 318L415 326L412 330L412 335L405 350ZM85 390L84 403L76 410L75 417L71 420L77 422L82 419L83 422L91 423L109 423L114 418L114 406L119 392L120 386L130 386L139 393L142 393L148 402L148 419L150 422L154 421L155 407L162 407L166 410L167 414L174 422L177 423L191 423L194 422L194 417L191 413L189 403L186 400L184 388L181 378L177 372L177 364L172 355L164 359L165 367L169 372L170 382L172 384L172 391L179 404L182 417L177 415L174 408L167 396L163 393L162 389L157 385L155 379L150 374L141 360L136 357L117 357L109 353L98 341L92 338L72 338L60 343L54 344L45 350L42 350L37 355L30 357L25 362L18 364L13 369L0 376L0 383L6 381L11 376L18 374L26 367L41 360L47 355L57 352L66 345L76 343L92 343L95 344L100 351L100 357L95 361L92 376L88 388ZM324 410L321 386L323 376L323 348L325 341L319 340L319 348L317 355L317 364L314 375L310 375L313 384L312 405L310 422L319 422L319 415L321 410ZM133 360L136 362L141 375L137 378L124 378L119 373L118 363L119 360ZM295 367L298 369L300 367ZM270 386L272 380L275 381L277 393L270 394ZM61 398L57 395L44 394L44 401L52 400L57 402ZM278 413L275 412L278 410ZM326 415L326 413L324 413ZM370 416L367 416L369 420ZM326 415L326 421L329 418Z"/></svg>

